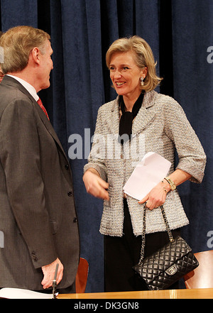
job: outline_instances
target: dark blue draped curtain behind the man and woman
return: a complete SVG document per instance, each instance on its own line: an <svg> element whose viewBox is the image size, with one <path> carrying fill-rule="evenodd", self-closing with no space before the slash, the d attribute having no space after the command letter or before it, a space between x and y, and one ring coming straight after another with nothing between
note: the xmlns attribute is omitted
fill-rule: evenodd
<svg viewBox="0 0 213 313"><path fill-rule="evenodd" d="M40 97L72 167L81 256L89 262L86 291L104 290L104 242L99 234L102 201L85 192L82 173L97 109L116 97L105 54L119 37L137 34L148 41L158 74L164 77L158 92L180 102L204 146L207 168L202 185L185 182L179 187L190 219L182 235L195 252L212 249L213 1L0 0L0 4L1 31L31 25L52 38L51 86Z"/></svg>

